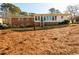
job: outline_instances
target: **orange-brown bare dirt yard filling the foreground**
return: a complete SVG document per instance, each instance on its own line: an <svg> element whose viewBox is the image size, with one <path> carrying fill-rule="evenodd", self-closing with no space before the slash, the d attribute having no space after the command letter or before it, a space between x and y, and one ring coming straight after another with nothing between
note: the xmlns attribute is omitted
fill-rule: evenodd
<svg viewBox="0 0 79 59"><path fill-rule="evenodd" d="M0 55L79 54L79 25L16 32L0 30Z"/></svg>

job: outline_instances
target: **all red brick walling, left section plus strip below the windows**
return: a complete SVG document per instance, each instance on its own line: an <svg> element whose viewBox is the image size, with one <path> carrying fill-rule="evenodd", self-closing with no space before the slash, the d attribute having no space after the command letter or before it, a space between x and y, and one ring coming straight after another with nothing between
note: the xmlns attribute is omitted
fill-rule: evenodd
<svg viewBox="0 0 79 59"><path fill-rule="evenodd" d="M11 24L12 26L15 27L20 27L20 26L40 26L40 22L34 22L33 18L12 18L11 19ZM56 22L44 22L45 26L51 26L57 24ZM43 23L41 23L41 25L43 25Z"/></svg>

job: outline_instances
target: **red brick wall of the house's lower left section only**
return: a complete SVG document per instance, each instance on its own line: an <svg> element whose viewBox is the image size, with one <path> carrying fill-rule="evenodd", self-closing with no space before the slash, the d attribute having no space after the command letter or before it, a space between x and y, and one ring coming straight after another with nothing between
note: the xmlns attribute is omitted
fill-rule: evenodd
<svg viewBox="0 0 79 59"><path fill-rule="evenodd" d="M12 26L27 26L27 25L34 25L33 18L12 18L11 19Z"/></svg>

